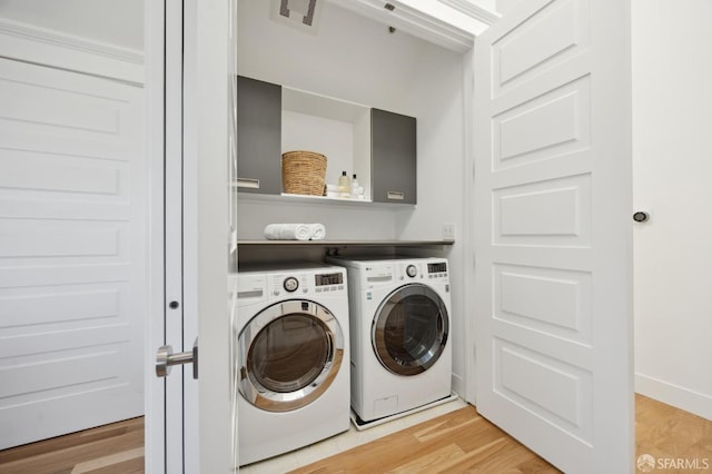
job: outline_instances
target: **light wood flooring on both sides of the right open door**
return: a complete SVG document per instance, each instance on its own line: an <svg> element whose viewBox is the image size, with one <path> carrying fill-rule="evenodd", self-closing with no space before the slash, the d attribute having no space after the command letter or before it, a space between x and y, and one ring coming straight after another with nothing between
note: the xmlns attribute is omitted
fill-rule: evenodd
<svg viewBox="0 0 712 474"><path fill-rule="evenodd" d="M636 454L690 460L712 472L712 421L635 395ZM322 473L555 473L551 464L467 406L293 471Z"/></svg>

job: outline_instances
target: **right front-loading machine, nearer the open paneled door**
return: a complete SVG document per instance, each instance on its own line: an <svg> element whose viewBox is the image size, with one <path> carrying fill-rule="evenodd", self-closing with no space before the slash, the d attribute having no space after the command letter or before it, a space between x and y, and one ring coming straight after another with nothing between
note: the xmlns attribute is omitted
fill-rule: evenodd
<svg viewBox="0 0 712 474"><path fill-rule="evenodd" d="M444 258L335 258L347 268L352 408L357 423L451 396L451 295Z"/></svg>

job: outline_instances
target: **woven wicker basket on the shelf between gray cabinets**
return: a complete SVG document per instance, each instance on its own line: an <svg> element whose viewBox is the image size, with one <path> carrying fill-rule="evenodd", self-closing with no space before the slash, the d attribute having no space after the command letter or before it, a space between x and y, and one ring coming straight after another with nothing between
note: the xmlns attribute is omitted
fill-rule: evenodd
<svg viewBox="0 0 712 474"><path fill-rule="evenodd" d="M314 151L281 154L281 184L285 192L324 196L326 157Z"/></svg>

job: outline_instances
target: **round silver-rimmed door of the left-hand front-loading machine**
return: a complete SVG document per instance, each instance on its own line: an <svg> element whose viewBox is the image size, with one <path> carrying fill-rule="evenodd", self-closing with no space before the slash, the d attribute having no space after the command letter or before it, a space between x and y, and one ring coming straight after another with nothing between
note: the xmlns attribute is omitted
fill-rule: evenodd
<svg viewBox="0 0 712 474"><path fill-rule="evenodd" d="M343 358L344 334L327 308L306 299L277 303L239 335L239 392L268 412L296 409L329 387Z"/></svg>

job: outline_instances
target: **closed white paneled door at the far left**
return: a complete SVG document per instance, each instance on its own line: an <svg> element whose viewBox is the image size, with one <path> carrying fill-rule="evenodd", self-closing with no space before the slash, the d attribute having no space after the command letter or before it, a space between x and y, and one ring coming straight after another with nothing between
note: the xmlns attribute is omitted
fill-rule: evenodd
<svg viewBox="0 0 712 474"><path fill-rule="evenodd" d="M142 93L0 59L0 450L144 413Z"/></svg>

